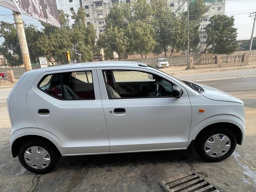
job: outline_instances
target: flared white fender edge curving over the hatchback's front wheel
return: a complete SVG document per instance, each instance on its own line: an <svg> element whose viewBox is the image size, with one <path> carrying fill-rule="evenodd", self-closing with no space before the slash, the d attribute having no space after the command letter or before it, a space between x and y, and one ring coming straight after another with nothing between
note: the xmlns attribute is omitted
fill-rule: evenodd
<svg viewBox="0 0 256 192"><path fill-rule="evenodd" d="M244 143L244 140L245 140L245 124L244 124L243 120L240 119L237 116L234 116L234 115L220 114L220 115L215 115L215 116L208 117L208 118L204 119L203 121L201 121L200 123L198 123L196 126L191 127L190 134L189 134L189 139L188 139L188 144L190 144L190 142L192 140L195 140L197 134L200 131L202 131L205 127L207 127L211 124L215 124L215 123L235 124L237 127L239 127L239 129L242 133L242 142L241 142L241 144Z"/></svg>

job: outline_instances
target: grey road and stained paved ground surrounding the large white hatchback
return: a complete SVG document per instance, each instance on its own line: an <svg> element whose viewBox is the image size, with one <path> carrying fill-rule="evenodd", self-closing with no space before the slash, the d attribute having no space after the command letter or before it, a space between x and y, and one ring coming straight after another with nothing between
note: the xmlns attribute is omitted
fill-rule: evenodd
<svg viewBox="0 0 256 192"><path fill-rule="evenodd" d="M256 69L175 76L198 80L244 101L245 143L222 162L204 162L193 150L70 156L62 157L53 172L36 175L25 170L17 157L12 158L10 128L6 127L0 128L0 191L163 191L160 180L190 170L229 192L256 191L255 75ZM236 76L252 77L232 78ZM204 79L211 80L200 81ZM0 106L10 90L0 88Z"/></svg>

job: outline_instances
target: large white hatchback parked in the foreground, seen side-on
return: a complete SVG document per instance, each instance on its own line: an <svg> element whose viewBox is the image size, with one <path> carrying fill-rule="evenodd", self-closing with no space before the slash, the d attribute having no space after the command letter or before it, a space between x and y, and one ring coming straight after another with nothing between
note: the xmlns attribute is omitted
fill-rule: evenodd
<svg viewBox="0 0 256 192"><path fill-rule="evenodd" d="M187 149L226 159L245 138L244 104L128 61L26 72L7 98L12 156L35 173L60 156Z"/></svg>

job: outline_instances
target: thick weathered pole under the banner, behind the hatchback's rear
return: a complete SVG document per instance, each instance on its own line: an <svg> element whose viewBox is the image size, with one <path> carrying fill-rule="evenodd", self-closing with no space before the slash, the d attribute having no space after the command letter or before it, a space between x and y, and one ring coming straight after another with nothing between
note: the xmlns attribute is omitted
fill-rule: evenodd
<svg viewBox="0 0 256 192"><path fill-rule="evenodd" d="M14 17L15 26L17 29L18 39L20 43L20 51L21 51L24 67L26 71L29 71L32 68L31 68L31 62L30 62L30 57L28 52L28 44L26 40L23 21L21 19L21 15L19 12L12 11L12 13Z"/></svg>

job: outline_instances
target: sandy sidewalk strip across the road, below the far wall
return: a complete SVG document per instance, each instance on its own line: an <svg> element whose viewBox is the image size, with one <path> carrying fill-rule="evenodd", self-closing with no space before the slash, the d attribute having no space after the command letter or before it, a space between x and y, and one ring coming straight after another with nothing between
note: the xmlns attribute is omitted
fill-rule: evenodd
<svg viewBox="0 0 256 192"><path fill-rule="evenodd" d="M236 67L223 67L223 68L209 68L209 69L186 69L187 66L170 66L169 68L161 68L160 70L171 75L186 75L195 73L209 73L209 72L219 72L219 71L234 71L243 69L256 69L256 61L249 62L249 65L236 66Z"/></svg>

